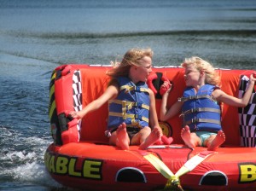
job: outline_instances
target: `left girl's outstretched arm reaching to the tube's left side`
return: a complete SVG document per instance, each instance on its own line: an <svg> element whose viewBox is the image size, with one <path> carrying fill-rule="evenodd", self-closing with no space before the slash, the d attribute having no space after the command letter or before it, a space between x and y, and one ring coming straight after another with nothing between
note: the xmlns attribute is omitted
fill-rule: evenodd
<svg viewBox="0 0 256 191"><path fill-rule="evenodd" d="M90 113L92 111L95 111L96 109L102 107L102 105L112 99L113 97L116 97L119 93L118 87L115 85L108 86L107 90L102 94L102 96L98 97L95 101L91 101L86 107L84 107L79 112L71 112L70 115L73 118L82 119L87 113Z"/></svg>

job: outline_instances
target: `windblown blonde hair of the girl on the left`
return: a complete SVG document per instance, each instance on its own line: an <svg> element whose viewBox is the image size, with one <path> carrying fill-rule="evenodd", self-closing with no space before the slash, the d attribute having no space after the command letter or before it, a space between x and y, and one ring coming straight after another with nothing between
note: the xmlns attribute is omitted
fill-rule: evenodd
<svg viewBox="0 0 256 191"><path fill-rule="evenodd" d="M117 61L112 62L113 68L106 72L106 74L112 78L128 76L131 66L140 67L140 60L143 59L144 56L148 56L152 59L152 49L129 49L120 63Z"/></svg>

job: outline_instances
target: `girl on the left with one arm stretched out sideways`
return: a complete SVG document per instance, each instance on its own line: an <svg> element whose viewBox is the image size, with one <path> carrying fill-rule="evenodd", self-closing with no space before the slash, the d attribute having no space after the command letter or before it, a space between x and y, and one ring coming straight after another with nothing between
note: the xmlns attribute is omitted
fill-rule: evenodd
<svg viewBox="0 0 256 191"><path fill-rule="evenodd" d="M110 145L121 149L139 145L140 149L146 149L159 141L162 131L157 119L154 93L146 84L152 72L152 56L151 49L128 50L122 61L115 62L106 73L112 79L102 96L83 110L70 113L71 116L82 119L108 101Z"/></svg>

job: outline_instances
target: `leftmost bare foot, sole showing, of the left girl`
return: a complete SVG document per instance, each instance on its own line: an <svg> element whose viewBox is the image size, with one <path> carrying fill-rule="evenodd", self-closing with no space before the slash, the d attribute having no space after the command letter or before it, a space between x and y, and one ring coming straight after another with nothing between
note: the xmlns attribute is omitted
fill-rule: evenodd
<svg viewBox="0 0 256 191"><path fill-rule="evenodd" d="M129 137L126 132L126 124L122 123L116 130L116 146L123 150L129 149Z"/></svg>

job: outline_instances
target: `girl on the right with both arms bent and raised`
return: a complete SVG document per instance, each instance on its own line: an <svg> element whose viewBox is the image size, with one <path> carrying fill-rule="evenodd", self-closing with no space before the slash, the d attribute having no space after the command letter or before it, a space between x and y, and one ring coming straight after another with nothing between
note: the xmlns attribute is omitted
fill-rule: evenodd
<svg viewBox="0 0 256 191"><path fill-rule="evenodd" d="M253 91L256 78L250 76L246 93L242 98L227 95L219 88L220 78L212 65L193 56L181 64L184 68L186 89L172 107L166 108L167 98L171 89L162 96L160 120L166 121L177 113L183 117L181 136L189 148L196 146L216 150L224 141L225 135L221 128L220 103L224 102L234 107L246 107ZM164 86L169 86L165 82Z"/></svg>

